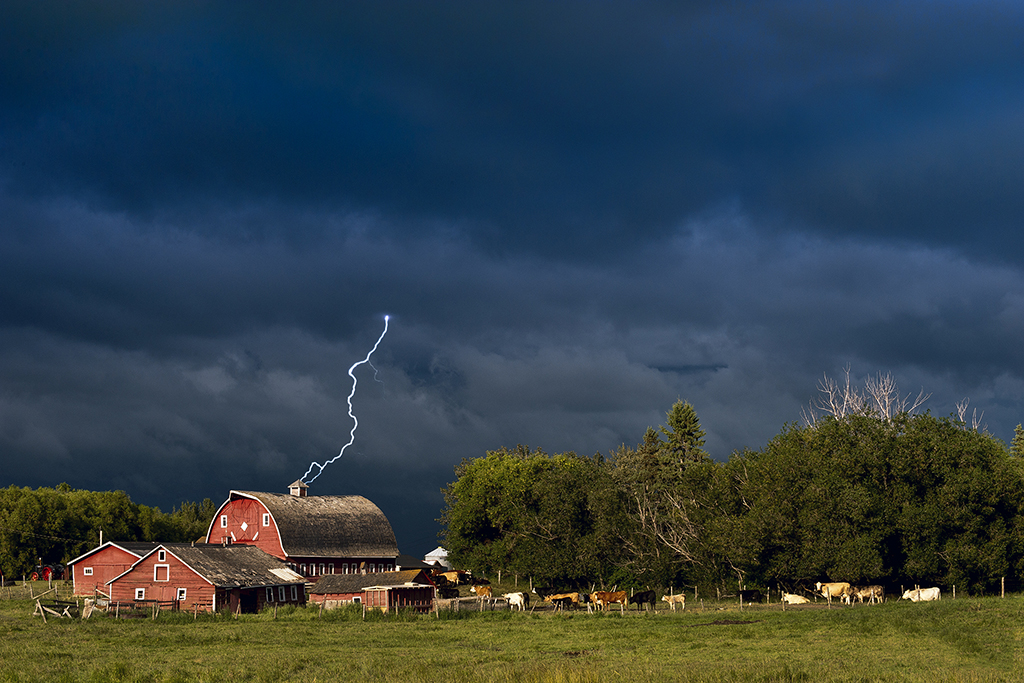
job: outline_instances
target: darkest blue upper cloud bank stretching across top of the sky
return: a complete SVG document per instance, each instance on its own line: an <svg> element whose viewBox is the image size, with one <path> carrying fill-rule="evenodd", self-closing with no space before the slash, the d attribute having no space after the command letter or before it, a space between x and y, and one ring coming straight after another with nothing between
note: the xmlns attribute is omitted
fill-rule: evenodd
<svg viewBox="0 0 1024 683"><path fill-rule="evenodd" d="M734 200L962 246L1022 214L1009 5L99 7L8 5L17 191L372 208L591 256Z"/></svg>

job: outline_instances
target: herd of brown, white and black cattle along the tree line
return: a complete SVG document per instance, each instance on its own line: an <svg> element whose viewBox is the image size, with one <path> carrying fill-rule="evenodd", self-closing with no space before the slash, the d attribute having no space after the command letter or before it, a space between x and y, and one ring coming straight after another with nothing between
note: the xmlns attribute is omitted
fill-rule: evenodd
<svg viewBox="0 0 1024 683"><path fill-rule="evenodd" d="M434 583L437 586L438 596L441 598L458 598L459 586L470 585L470 593L481 600L504 600L510 609L525 610L530 607L530 592L518 591L514 593L503 593L496 595L489 582L486 580L474 579L468 571L436 571L433 574ZM885 600L885 589L882 586L852 586L848 583L818 583L814 587L814 594L824 598L828 604L831 601L842 600L846 604L878 603ZM531 592L537 596L537 604L551 605L556 610L577 609L586 607L587 611L606 610L612 605L618 605L620 611L625 611L630 605L636 605L637 609L654 609L657 604L657 595L652 590L637 591L629 595L627 591L595 591L585 593L582 591L561 591L553 588L534 588ZM761 591L743 590L739 592L739 599L742 602L763 602L764 595ZM938 588L914 588L903 593L902 599L911 602L927 602L939 600L941 594ZM686 596L682 593L662 596L662 601L669 603L673 611L676 607L686 609ZM782 593L781 602L788 605L807 604L810 599L795 593Z"/></svg>

